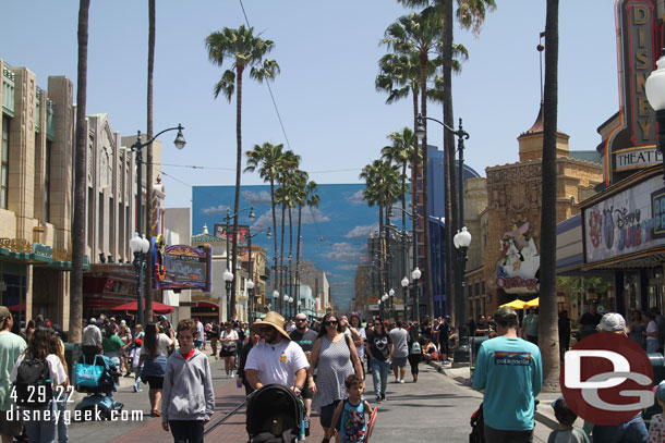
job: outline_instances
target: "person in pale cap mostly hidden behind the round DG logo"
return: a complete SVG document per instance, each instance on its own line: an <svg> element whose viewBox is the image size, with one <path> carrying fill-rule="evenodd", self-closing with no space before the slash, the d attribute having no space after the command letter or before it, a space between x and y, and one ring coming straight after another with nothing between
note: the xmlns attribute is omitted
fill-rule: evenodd
<svg viewBox="0 0 665 443"><path fill-rule="evenodd" d="M626 335L626 319L617 312L607 312L601 317L597 325L597 331L601 333L610 333ZM590 423L584 423L584 429ZM642 418L642 413L638 413L634 417L620 424L613 426L593 426L593 441L603 443L630 443L630 442L646 442L646 424Z"/></svg>

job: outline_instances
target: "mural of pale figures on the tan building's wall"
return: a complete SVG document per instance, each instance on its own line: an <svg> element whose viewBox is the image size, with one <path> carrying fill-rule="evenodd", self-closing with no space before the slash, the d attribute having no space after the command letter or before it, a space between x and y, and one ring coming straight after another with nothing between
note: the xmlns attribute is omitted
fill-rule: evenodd
<svg viewBox="0 0 665 443"><path fill-rule="evenodd" d="M539 291L539 255L529 221L515 221L499 241L501 258L496 263L496 285L506 293Z"/></svg>

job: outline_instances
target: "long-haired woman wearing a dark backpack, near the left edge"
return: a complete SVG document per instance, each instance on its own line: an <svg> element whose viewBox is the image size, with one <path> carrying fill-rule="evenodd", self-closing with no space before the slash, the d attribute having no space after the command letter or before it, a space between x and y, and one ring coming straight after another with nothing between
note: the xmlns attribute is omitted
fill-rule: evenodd
<svg viewBox="0 0 665 443"><path fill-rule="evenodd" d="M31 443L56 441L58 422L55 396L60 395L59 390L66 391L66 372L60 357L53 353L53 336L51 329L37 328L10 374L14 383L12 397L23 409L22 417Z"/></svg>

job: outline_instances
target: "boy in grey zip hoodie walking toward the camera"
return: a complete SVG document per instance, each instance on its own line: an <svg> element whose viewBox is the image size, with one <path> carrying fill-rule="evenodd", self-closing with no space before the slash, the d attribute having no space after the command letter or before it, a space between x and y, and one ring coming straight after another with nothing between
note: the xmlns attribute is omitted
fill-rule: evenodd
<svg viewBox="0 0 665 443"><path fill-rule="evenodd" d="M167 432L170 428L177 442L203 442L203 426L215 410L210 364L194 347L197 334L193 320L178 323L180 348L169 357L164 376L161 426Z"/></svg>

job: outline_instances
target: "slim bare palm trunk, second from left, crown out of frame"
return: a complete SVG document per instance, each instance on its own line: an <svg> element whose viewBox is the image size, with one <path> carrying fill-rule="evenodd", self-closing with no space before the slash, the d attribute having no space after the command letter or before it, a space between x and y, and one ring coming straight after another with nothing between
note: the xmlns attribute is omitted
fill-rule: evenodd
<svg viewBox="0 0 665 443"><path fill-rule="evenodd" d="M155 69L155 0L148 0L148 91L147 91L147 137L153 138L153 71ZM145 236L152 241L153 235L153 144L147 146L147 162L146 162L146 202L145 202ZM153 318L153 255L148 254L148 278L145 279L145 318Z"/></svg>

